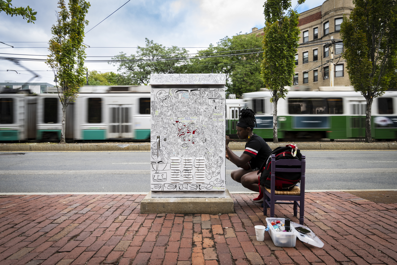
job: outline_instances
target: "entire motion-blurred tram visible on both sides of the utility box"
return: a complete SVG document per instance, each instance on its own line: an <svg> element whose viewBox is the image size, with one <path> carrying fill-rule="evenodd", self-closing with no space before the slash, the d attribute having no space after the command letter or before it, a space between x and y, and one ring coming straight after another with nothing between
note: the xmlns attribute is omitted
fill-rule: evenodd
<svg viewBox="0 0 397 265"><path fill-rule="evenodd" d="M150 85L84 86L66 111L67 141L134 141L150 137ZM47 93L0 93L0 141L59 141L62 104L56 88ZM242 108L256 113L254 132L273 138L268 90L226 99L226 135L237 138ZM280 141L365 138L366 101L355 91L289 91L278 101ZM372 103L372 138L397 139L397 91Z"/></svg>

